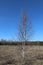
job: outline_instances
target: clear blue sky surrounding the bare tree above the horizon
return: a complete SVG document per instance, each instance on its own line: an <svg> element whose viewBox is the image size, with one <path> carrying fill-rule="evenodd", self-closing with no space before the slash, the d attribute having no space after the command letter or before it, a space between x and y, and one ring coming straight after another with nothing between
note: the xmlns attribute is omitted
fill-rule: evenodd
<svg viewBox="0 0 43 65"><path fill-rule="evenodd" d="M0 0L0 39L17 40L22 9L31 16L32 40L43 41L43 0Z"/></svg>

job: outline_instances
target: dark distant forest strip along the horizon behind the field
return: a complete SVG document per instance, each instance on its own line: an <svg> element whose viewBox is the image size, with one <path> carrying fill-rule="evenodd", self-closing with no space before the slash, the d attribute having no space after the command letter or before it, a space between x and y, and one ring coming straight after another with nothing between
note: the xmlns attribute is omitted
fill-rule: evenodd
<svg viewBox="0 0 43 65"><path fill-rule="evenodd" d="M24 42L1 40L0 45L22 45ZM41 41L26 41L25 45L43 45Z"/></svg>

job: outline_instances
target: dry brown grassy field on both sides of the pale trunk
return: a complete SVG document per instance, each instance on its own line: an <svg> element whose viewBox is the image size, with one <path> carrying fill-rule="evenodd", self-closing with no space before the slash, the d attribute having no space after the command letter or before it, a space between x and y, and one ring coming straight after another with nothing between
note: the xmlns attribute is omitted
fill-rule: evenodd
<svg viewBox="0 0 43 65"><path fill-rule="evenodd" d="M0 65L22 65L21 45L0 45ZM25 46L25 65L43 65L43 46Z"/></svg>

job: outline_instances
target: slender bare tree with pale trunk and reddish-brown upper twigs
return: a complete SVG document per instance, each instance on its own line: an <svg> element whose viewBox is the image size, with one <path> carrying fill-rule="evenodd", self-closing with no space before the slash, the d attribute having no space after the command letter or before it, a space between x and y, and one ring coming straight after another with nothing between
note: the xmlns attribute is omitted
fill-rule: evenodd
<svg viewBox="0 0 43 65"><path fill-rule="evenodd" d="M22 20L19 23L19 41L22 42L22 65L25 65L25 42L29 41L32 34L32 24L28 20L26 13L23 12Z"/></svg>

